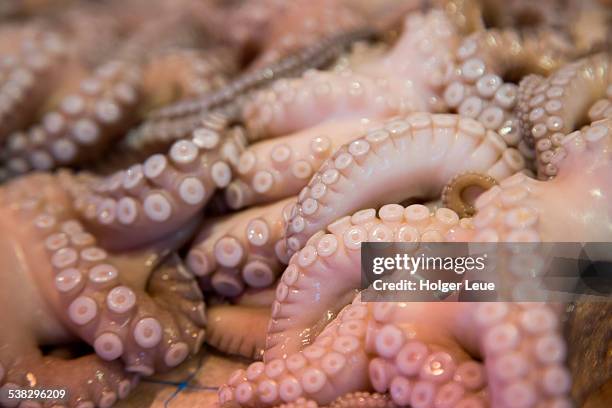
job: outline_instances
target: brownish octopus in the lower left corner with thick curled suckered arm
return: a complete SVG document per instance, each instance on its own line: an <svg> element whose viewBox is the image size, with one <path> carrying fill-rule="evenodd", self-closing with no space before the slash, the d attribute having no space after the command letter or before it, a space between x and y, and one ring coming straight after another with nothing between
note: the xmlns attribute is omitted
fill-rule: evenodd
<svg viewBox="0 0 612 408"><path fill-rule="evenodd" d="M199 350L202 295L183 265L160 259L185 233L111 253L79 222L57 177L21 178L0 196L2 230L10 231L1 241L8 268L0 314L3 398L10 389L63 388L68 400L57 403L109 407L139 376L175 367ZM63 359L39 348L79 339L95 354Z"/></svg>

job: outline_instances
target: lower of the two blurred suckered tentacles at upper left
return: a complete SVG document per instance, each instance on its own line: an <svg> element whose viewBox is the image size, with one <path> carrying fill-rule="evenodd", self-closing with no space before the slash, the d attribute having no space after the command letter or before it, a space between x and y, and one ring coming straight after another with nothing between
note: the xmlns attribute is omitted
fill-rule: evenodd
<svg viewBox="0 0 612 408"><path fill-rule="evenodd" d="M39 124L9 136L4 152L9 174L90 159L133 124L140 81L135 67L113 61L60 92Z"/></svg>

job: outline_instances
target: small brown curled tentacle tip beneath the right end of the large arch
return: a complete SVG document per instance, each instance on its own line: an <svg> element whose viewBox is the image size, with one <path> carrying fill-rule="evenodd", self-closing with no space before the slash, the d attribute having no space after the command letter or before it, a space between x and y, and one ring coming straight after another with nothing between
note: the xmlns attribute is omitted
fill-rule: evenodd
<svg viewBox="0 0 612 408"><path fill-rule="evenodd" d="M461 218L471 217L476 209L463 195L470 189L478 188L486 191L496 185L498 185L497 180L485 174L473 172L459 174L442 190L442 206L455 211Z"/></svg>

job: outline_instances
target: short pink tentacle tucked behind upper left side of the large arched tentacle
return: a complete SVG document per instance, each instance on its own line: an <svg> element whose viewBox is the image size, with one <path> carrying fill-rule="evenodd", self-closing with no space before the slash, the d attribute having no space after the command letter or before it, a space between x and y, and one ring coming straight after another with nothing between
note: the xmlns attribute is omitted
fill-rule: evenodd
<svg viewBox="0 0 612 408"><path fill-rule="evenodd" d="M296 195L338 147L365 130L362 121L333 121L250 145L225 190L232 209Z"/></svg>

